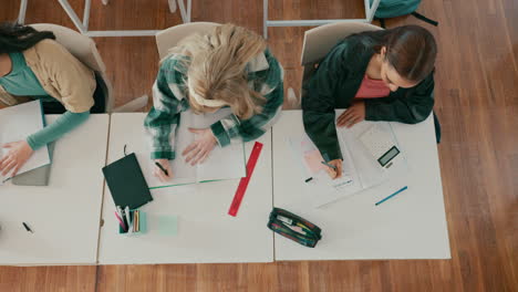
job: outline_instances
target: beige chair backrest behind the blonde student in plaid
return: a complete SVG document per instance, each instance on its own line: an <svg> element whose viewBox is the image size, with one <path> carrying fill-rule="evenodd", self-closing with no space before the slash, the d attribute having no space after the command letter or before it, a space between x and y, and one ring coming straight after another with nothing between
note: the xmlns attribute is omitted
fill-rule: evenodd
<svg viewBox="0 0 518 292"><path fill-rule="evenodd" d="M209 32L217 25L220 24L215 22L190 22L158 32L155 38L160 60L167 55L170 48L175 46L185 36L193 33Z"/></svg>

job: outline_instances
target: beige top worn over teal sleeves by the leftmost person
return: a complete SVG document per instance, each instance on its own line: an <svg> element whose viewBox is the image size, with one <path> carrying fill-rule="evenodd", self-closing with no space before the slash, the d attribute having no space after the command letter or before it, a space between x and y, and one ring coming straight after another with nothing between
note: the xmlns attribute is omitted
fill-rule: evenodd
<svg viewBox="0 0 518 292"><path fill-rule="evenodd" d="M94 105L95 75L63 45L53 40L43 40L23 51L27 65L34 72L43 90L72 113L90 111ZM23 96L13 96L0 85L0 102L15 105L27 102Z"/></svg>

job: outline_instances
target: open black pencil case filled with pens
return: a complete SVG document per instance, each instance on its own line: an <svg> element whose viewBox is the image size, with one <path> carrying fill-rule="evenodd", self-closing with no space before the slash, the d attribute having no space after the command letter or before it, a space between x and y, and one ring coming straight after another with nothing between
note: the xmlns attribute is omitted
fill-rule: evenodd
<svg viewBox="0 0 518 292"><path fill-rule="evenodd" d="M314 248L322 239L322 230L318 226L281 208L273 208L268 228L309 248Z"/></svg>

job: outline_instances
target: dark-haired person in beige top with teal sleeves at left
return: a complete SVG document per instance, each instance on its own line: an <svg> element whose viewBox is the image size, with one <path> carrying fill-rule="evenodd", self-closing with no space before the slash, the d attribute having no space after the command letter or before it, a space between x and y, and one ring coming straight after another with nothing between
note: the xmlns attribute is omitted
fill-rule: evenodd
<svg viewBox="0 0 518 292"><path fill-rule="evenodd" d="M49 31L0 24L0 107L41 100L45 114L63 114L23 140L0 145L3 176L14 176L34 150L73 131L91 112L104 112L94 72L54 39Z"/></svg>

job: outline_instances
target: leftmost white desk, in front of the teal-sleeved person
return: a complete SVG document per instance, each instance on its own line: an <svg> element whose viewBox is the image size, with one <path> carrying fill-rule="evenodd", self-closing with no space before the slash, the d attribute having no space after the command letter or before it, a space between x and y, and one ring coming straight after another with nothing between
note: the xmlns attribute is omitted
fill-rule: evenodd
<svg viewBox="0 0 518 292"><path fill-rule="evenodd" d="M0 264L96 262L107 127L108 115L91 115L59 139L49 186L0 186Z"/></svg>

